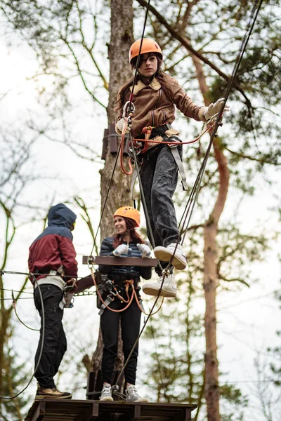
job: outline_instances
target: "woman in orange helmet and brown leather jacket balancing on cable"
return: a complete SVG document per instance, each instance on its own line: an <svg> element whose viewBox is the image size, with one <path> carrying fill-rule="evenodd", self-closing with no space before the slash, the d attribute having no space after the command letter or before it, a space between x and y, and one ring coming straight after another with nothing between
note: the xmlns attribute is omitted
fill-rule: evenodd
<svg viewBox="0 0 281 421"><path fill-rule="evenodd" d="M136 69L141 40L134 42L129 51L129 62ZM131 137L144 139L150 128L151 140L164 140L181 142L179 131L171 123L175 120L175 106L187 117L196 121L207 122L216 113L221 111L224 99L221 98L209 107L199 107L188 97L176 79L162 71L163 55L159 45L152 39L143 39L141 47L141 60L137 69L136 84L133 88L133 105L135 111L126 133L131 131ZM121 134L124 126L122 118L123 108L131 98L133 77L127 81L117 95L116 111L119 112L116 131ZM228 111L229 107L224 110ZM126 115L127 116L127 115ZM182 146L171 148L168 145L143 142L141 154L141 182L148 216L152 228L150 234L147 225L150 243L155 241L155 257L165 269L171 264L176 269L185 269L187 262L180 241L173 195L178 180L178 169L182 172ZM147 149L148 148L148 149ZM145 150L147 149L147 150ZM139 155L140 156L140 155ZM183 174L184 181L184 174ZM143 201L143 198L141 198ZM178 243L178 244L177 244ZM159 280L143 286L143 292L148 295L157 295L162 286L160 295L175 297L177 293L172 267L169 272L162 272L159 266L155 268ZM164 276L164 282L163 281Z"/></svg>

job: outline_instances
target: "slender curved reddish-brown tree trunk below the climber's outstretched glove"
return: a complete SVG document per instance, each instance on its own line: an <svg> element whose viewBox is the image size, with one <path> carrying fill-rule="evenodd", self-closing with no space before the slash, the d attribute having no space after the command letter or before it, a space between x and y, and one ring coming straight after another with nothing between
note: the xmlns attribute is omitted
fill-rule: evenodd
<svg viewBox="0 0 281 421"><path fill-rule="evenodd" d="M206 310L204 317L206 354L205 354L205 399L207 420L219 421L218 359L216 345L216 233L218 220L223 212L228 194L229 171L226 157L219 148L219 138L214 139L214 153L218 162L219 188L213 211L204 227L204 292Z"/></svg>

